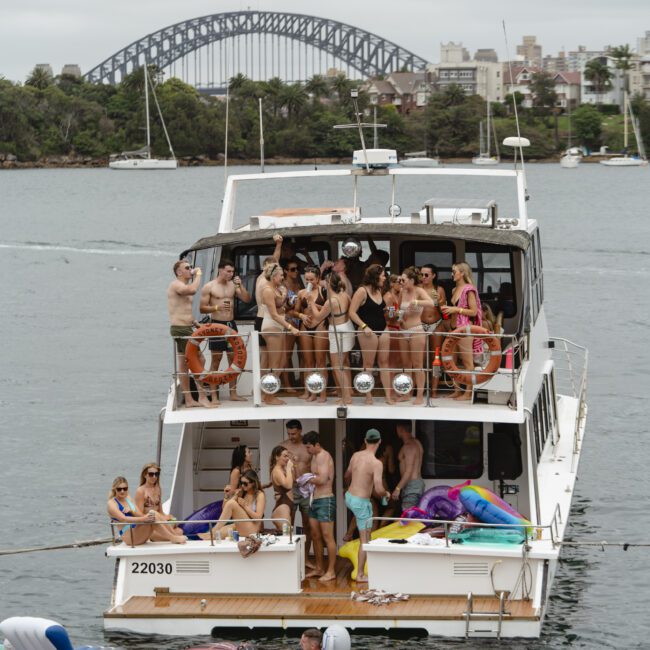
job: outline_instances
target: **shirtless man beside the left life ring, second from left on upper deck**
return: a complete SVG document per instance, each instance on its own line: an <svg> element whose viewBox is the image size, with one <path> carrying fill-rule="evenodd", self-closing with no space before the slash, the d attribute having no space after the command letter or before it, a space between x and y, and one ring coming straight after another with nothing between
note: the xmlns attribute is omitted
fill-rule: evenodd
<svg viewBox="0 0 650 650"><path fill-rule="evenodd" d="M202 314L210 314L210 322L226 325L236 332L237 323L234 320L235 297L244 302L250 302L251 295L246 291L239 277L233 277L235 275L235 266L230 260L222 259L217 268L217 277L210 282L206 282L201 290L200 310ZM228 365L232 363L232 351L229 351L228 339L210 339L208 346L212 353L211 371L219 370L219 364L224 353L228 357ZM218 387L212 384L211 397L214 406L219 405L218 390ZM236 379L230 383L230 399L233 402L244 401L243 397L237 395Z"/></svg>

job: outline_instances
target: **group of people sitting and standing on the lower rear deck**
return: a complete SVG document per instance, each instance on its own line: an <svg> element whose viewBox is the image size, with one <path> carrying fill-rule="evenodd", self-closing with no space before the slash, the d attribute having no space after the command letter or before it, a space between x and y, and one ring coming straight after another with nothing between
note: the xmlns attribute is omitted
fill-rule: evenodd
<svg viewBox="0 0 650 650"><path fill-rule="evenodd" d="M262 531L265 489L272 488L275 502L271 519L277 532L284 531L285 524L293 524L300 510L306 536L306 577L329 582L336 578L334 461L321 446L316 431L303 435L299 420L289 420L286 432L286 439L271 452L267 485L261 484L253 468L251 450L246 445L235 447L219 521L212 533L202 533L199 537L210 539L217 532L224 534L231 529L240 536ZM367 581L363 544L370 541L370 532L376 527L373 517L380 512L379 504L384 508L384 515L396 510L399 515L417 505L425 489L421 476L423 449L413 436L411 422L397 421L395 434L397 439L393 440L395 436L387 432L382 442L378 429L368 429L362 448L352 454L344 475L345 504L356 523L361 542L357 582ZM395 461L399 470L393 466ZM115 537L134 545L149 540L185 543L187 537L175 524L174 517L162 510L160 467L155 463L145 465L140 481L135 499L131 498L124 477L118 476L113 481L107 511L114 524ZM344 540L351 539L351 531L352 526ZM308 559L312 545L315 564Z"/></svg>

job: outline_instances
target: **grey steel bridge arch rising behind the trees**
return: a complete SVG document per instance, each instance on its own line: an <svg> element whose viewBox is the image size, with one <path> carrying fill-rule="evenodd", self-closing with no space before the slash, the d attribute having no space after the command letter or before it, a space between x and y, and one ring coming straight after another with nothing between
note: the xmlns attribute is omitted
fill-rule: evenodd
<svg viewBox="0 0 650 650"><path fill-rule="evenodd" d="M386 75L402 69L422 70L427 64L425 59L396 43L346 23L303 14L249 10L211 14L164 27L108 57L84 78L115 84L145 61L165 70L206 46L214 47L218 43L223 47L228 39L248 39L253 35L270 35L320 50L362 77ZM261 67L261 52L258 56ZM286 61L289 53L285 52L285 57ZM234 73L240 71L233 67Z"/></svg>

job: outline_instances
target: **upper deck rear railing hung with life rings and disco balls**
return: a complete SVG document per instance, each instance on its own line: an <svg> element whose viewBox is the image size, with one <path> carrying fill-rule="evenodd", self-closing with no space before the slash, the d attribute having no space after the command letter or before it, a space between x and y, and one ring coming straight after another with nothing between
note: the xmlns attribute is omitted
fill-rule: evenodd
<svg viewBox="0 0 650 650"><path fill-rule="evenodd" d="M517 408L518 383L525 360L524 340L517 335L477 336L471 332L426 333L411 330L384 330L374 334L381 337L376 354L360 349L363 341L357 343L359 332L349 331L333 335L331 342L327 330L310 333L308 349L298 341L299 337L282 331L262 334L245 331L200 339L182 337L186 339L188 348L190 345L198 346L198 355L194 354L194 357L195 361L196 358L199 359L201 367L197 369L196 363L193 369L182 367L179 356L174 351L175 408L183 403L184 384L190 386L190 391L194 391L196 396L196 382L200 382L202 389L209 395L215 387L229 381L235 382L239 397L252 401L255 406L272 403L267 399L269 395L281 393L283 397L290 397L302 390L314 401L319 396L326 397L328 388L335 387L345 388L355 398L368 397L373 391L377 395L378 389L386 394L382 382L389 381L389 402L397 401L400 396L404 399L410 398L413 393L417 395L419 388L424 392L420 405L438 406L440 404L434 401L432 393L438 387L453 389L458 383L461 387L474 385L473 397L477 402L487 400ZM304 335L301 332L301 336ZM260 336L267 342L267 347L263 350L260 348ZM353 337L355 347L344 352L345 347L351 344L350 337ZM244 367L237 367L237 355L234 360L226 359L226 355L218 351L217 354L224 359L220 360L218 369L213 369L210 347L221 350L228 347L228 352L231 353L233 346L230 342L235 338L239 339L239 350L242 346L246 350ZM451 344L445 345L450 339ZM467 359L471 349L470 343L463 342L465 339L471 339L472 342L482 340L481 352L472 351L472 362L475 364L473 368L466 368L463 364L463 356ZM224 344L216 345L219 342ZM330 354L331 345L339 353ZM273 355L273 349L283 347L285 353ZM291 347L290 352L288 347ZM185 378L187 382L182 381ZM488 397L490 393L500 393L500 397L491 401ZM479 394L483 398L479 398Z"/></svg>

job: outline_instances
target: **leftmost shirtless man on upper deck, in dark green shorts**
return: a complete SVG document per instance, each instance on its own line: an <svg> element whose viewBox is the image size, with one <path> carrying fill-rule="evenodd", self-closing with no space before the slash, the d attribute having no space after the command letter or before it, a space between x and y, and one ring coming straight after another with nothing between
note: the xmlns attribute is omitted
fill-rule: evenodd
<svg viewBox="0 0 650 650"><path fill-rule="evenodd" d="M186 336L192 336L192 325L194 316L192 316L192 297L199 290L201 284L201 269L192 269L187 260L179 260L174 264L174 275L167 288L167 311L169 312L169 333L176 342L176 365L179 373L181 384L181 393L185 406L211 406L210 400L205 395L203 386L196 382L199 391L199 401L197 402L190 392L190 379L187 373L187 363L185 362L185 347L187 345ZM194 277L192 277L194 276Z"/></svg>

